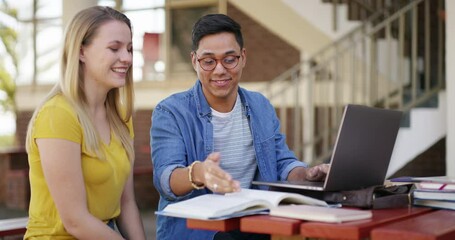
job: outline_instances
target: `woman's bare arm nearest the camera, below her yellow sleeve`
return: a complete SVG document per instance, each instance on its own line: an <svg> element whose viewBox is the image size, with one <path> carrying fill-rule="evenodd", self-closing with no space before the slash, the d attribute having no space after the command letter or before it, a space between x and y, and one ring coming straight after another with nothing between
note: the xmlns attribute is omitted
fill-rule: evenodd
<svg viewBox="0 0 455 240"><path fill-rule="evenodd" d="M123 239L90 214L81 167L81 146L64 139L36 139L52 199L66 231L77 239Z"/></svg>

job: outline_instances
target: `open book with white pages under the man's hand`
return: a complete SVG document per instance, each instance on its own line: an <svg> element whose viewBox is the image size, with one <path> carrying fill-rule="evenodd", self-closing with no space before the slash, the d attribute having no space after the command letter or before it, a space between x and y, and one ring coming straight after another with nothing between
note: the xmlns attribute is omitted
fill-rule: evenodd
<svg viewBox="0 0 455 240"><path fill-rule="evenodd" d="M267 213L280 204L328 206L326 202L297 193L242 189L240 192L205 194L166 206L158 215L202 220L220 220Z"/></svg>

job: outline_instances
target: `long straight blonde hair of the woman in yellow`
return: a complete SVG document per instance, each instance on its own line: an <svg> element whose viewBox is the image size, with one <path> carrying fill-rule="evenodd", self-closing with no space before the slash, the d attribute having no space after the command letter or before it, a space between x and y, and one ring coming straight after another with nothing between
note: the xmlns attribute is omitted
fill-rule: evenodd
<svg viewBox="0 0 455 240"><path fill-rule="evenodd" d="M52 88L33 113L28 124L26 149L30 151L32 139L32 126L41 107L52 97L61 94L74 107L84 132L86 149L95 153L99 158L104 155L101 151L102 140L95 129L92 120L86 111L87 98L83 89L83 69L79 61L82 46L91 44L97 30L108 21L121 21L128 25L131 31L130 20L121 12L110 7L95 6L77 13L65 30L61 56L61 78ZM111 131L117 136L126 150L130 161L134 161L134 146L127 122L131 121L133 112L133 73L130 68L127 72L126 83L122 88L111 89L106 97L106 112Z"/></svg>

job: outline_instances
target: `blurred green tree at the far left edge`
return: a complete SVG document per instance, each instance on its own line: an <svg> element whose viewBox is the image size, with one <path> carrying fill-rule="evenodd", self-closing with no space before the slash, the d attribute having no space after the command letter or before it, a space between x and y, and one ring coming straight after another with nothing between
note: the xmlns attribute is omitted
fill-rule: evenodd
<svg viewBox="0 0 455 240"><path fill-rule="evenodd" d="M3 19L17 20L17 11L8 7L5 0L0 2L0 14ZM15 76L18 70L18 58L15 51L17 43L17 32L7 23L6 20L0 21L0 50L2 57L0 58L0 107L3 111L12 111L16 114L17 107L15 101L16 81ZM3 51L5 53L3 53ZM7 62L8 61L8 62ZM3 96L2 96L3 95ZM1 109L0 109L1 110Z"/></svg>

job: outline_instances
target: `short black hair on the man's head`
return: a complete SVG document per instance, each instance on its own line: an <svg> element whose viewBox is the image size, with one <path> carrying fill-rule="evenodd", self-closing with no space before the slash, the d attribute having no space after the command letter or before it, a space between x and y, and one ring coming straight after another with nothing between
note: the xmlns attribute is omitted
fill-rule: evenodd
<svg viewBox="0 0 455 240"><path fill-rule="evenodd" d="M240 24L224 14L208 14L201 17L193 26L191 49L196 51L199 48L199 41L203 37L222 32L233 33L240 48L243 48Z"/></svg>

